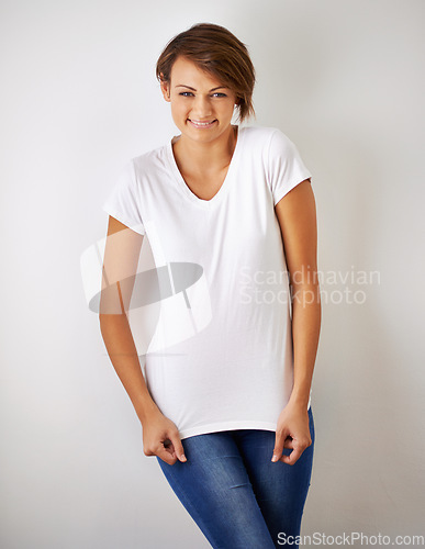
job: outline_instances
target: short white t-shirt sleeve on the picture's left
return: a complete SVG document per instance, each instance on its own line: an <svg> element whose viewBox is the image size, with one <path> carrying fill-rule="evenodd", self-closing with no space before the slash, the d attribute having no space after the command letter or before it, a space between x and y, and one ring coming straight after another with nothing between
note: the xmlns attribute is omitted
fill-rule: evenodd
<svg viewBox="0 0 425 549"><path fill-rule="evenodd" d="M144 235L145 227L139 205L139 188L133 160L130 160L121 170L115 186L102 204L102 210L134 232Z"/></svg>

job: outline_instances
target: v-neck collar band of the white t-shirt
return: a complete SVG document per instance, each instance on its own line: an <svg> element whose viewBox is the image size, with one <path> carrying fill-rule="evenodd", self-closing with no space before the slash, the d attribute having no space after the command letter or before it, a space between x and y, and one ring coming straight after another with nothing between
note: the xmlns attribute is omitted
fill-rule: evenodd
<svg viewBox="0 0 425 549"><path fill-rule="evenodd" d="M200 199L199 197L197 197L189 189L187 182L184 181L182 175L180 173L180 170L179 170L179 168L177 166L176 158L175 158L175 155L174 155L174 152L172 152L172 144L175 143L175 141L179 136L175 135L171 139L169 139L169 142L167 143L167 145L165 145L165 147L166 147L166 156L167 156L168 164L169 164L169 167L171 169L172 176L174 176L174 178L175 178L175 180L176 180L179 189L183 192L183 194L193 204L198 204L201 208L211 208L214 204L217 204L223 199L223 197L226 194L226 192L228 190L228 187L230 187L230 184L232 182L233 172L236 169L235 165L238 163L238 158L239 158L239 155L241 155L241 148L242 148L242 143L241 142L242 142L242 137L244 135L244 128L241 128L241 126L236 126L236 127L237 127L237 139L236 139L235 148L233 150L231 164L228 165L228 168L227 168L226 177L224 178L224 181L223 181L222 186L220 187L219 191L210 200L204 200L204 199Z"/></svg>

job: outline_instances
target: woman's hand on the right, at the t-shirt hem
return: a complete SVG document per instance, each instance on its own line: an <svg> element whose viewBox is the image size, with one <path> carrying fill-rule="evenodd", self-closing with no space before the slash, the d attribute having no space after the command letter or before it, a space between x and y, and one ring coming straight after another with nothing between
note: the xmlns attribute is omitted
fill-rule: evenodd
<svg viewBox="0 0 425 549"><path fill-rule="evenodd" d="M271 461L282 461L293 466L311 444L306 407L289 402L279 415ZM291 448L291 453L283 455L283 448Z"/></svg>

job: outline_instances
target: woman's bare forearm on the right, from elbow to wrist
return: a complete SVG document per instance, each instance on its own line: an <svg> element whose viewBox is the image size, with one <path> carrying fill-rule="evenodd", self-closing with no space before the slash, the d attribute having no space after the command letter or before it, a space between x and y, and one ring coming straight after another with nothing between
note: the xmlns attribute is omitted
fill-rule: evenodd
<svg viewBox="0 0 425 549"><path fill-rule="evenodd" d="M321 330L322 306L318 283L298 284L292 296L294 380L291 403L309 403Z"/></svg>

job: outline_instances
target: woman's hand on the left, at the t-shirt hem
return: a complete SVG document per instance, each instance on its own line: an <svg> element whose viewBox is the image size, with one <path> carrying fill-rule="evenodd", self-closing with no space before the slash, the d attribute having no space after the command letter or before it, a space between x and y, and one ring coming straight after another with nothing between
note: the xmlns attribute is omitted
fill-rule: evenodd
<svg viewBox="0 0 425 549"><path fill-rule="evenodd" d="M170 466L174 466L178 459L183 462L187 460L179 429L159 410L145 417L142 422L142 429L145 456L158 456Z"/></svg>

